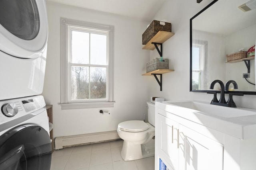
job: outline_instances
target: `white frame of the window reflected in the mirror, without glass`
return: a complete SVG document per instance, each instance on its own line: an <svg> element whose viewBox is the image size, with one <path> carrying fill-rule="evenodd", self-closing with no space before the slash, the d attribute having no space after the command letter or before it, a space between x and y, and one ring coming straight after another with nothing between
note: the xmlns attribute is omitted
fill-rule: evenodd
<svg viewBox="0 0 256 170"><path fill-rule="evenodd" d="M201 41L201 40L193 40L192 42L192 48L197 47L200 50L200 56L199 56L199 70L192 70L193 72L199 72L200 77L198 80L198 90L204 90L206 89L205 82L206 82L206 66L207 66L207 50L208 50L208 42L207 41Z"/></svg>

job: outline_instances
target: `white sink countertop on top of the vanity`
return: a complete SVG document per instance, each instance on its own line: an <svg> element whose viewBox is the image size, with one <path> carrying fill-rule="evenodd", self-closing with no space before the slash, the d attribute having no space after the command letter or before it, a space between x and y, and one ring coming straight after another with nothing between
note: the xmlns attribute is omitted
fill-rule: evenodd
<svg viewBox="0 0 256 170"><path fill-rule="evenodd" d="M180 102L180 101L179 101ZM188 102L188 101L184 101ZM200 102L200 101L190 101L190 102ZM220 131L227 135L237 137L239 139L256 139L256 109L248 109L243 107L230 108L224 106L210 105L209 102L200 102L202 104L207 104L206 106L210 109L216 108L216 110L223 109L225 114L229 116L221 117L217 115L207 114L207 111L198 111L195 109L190 109L182 106L177 106L170 102L156 102L156 109L162 109L167 112L170 112L174 115L188 119L200 125L204 125L211 129ZM208 105L209 104L209 105ZM212 110L211 110L212 111ZM230 113L228 113L230 111ZM236 111L240 113L240 116L232 117L232 112ZM242 112L248 113L250 115L242 116ZM255 114L254 114L255 113Z"/></svg>

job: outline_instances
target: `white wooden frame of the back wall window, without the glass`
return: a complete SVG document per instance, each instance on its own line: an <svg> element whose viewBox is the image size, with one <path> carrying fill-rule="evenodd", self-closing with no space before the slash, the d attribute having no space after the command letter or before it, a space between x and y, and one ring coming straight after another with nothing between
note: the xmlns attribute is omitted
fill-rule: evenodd
<svg viewBox="0 0 256 170"><path fill-rule="evenodd" d="M72 30L84 30L107 35L106 99L71 100L71 45ZM114 107L114 26L60 18L60 106L62 109ZM75 64L77 65L77 64ZM97 66L81 64L81 66Z"/></svg>

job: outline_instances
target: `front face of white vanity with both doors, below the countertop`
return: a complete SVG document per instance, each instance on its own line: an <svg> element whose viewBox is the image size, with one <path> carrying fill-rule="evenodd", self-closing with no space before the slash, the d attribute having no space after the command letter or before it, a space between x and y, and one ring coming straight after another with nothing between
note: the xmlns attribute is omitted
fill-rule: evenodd
<svg viewBox="0 0 256 170"><path fill-rule="evenodd" d="M168 118L168 114L156 115L155 169L159 170L161 158L169 170L222 170L223 145Z"/></svg>

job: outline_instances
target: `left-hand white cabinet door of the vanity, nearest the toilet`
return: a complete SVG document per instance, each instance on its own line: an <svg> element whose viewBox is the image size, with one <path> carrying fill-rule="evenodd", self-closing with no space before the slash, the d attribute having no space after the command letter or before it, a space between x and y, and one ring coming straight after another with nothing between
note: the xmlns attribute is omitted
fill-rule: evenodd
<svg viewBox="0 0 256 170"><path fill-rule="evenodd" d="M178 126L177 122L158 114L159 156L169 160L168 168L174 170L178 170Z"/></svg>

